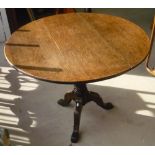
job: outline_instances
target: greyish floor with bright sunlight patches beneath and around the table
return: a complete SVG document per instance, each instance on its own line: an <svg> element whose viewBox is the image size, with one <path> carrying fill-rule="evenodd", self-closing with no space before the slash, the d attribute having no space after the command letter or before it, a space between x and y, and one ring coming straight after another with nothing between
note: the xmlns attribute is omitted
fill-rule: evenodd
<svg viewBox="0 0 155 155"><path fill-rule="evenodd" d="M128 18L150 34L155 9L93 11ZM105 111L93 102L87 104L82 112L80 141L71 144L74 103L64 108L57 100L72 85L38 81L17 72L6 62L0 45L0 127L9 129L12 145L155 145L155 78L146 72L144 63L88 88L115 108Z"/></svg>

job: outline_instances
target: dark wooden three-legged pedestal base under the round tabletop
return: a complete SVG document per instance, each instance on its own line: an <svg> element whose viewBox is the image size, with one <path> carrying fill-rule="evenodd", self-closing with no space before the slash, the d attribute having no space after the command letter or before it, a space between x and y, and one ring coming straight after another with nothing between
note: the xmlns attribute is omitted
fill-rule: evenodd
<svg viewBox="0 0 155 155"><path fill-rule="evenodd" d="M80 116L83 106L90 101L94 101L101 108L110 110L113 108L113 105L110 102L104 103L99 94L88 91L86 84L83 83L75 84L73 91L66 93L64 99L60 99L58 104L61 106L69 106L72 100L75 101L76 107L74 111L74 128L71 142L76 143L79 140Z"/></svg>

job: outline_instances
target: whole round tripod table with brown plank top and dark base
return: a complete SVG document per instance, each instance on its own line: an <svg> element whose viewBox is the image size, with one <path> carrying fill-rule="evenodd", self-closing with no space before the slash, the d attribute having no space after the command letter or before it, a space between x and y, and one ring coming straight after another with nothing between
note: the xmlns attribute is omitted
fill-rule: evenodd
<svg viewBox="0 0 155 155"><path fill-rule="evenodd" d="M109 110L86 84L121 75L144 61L150 41L136 24L121 17L70 13L45 17L15 31L5 44L8 62L37 79L73 84L73 91L58 101L76 103L72 142L79 139L82 107L94 101Z"/></svg>

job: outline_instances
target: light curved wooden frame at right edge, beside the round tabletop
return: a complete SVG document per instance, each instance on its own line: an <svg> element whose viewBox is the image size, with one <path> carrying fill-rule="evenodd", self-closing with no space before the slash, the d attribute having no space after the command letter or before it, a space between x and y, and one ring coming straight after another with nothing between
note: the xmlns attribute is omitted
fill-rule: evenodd
<svg viewBox="0 0 155 155"><path fill-rule="evenodd" d="M151 57L151 53L152 53L152 47L153 47L154 37L155 37L155 17L153 19L153 24L152 24L149 54L148 54L148 57L146 59L146 69L153 76L155 76L155 67L151 67L149 65L149 61L150 61L150 57Z"/></svg>

